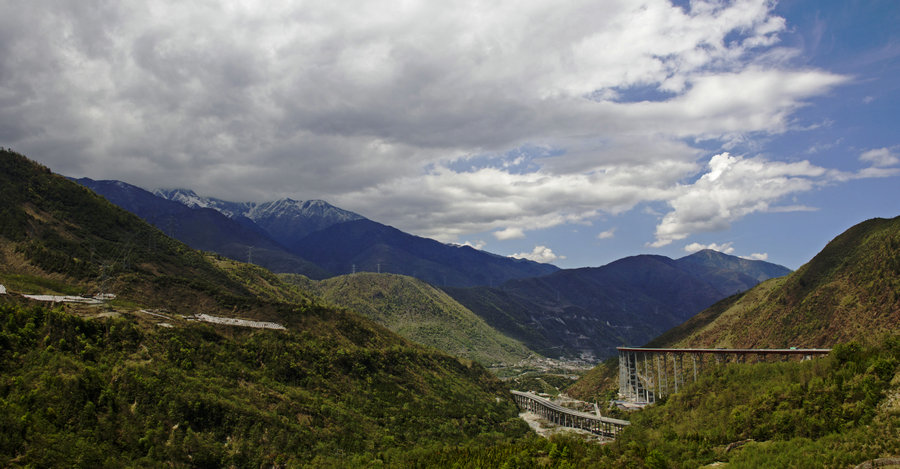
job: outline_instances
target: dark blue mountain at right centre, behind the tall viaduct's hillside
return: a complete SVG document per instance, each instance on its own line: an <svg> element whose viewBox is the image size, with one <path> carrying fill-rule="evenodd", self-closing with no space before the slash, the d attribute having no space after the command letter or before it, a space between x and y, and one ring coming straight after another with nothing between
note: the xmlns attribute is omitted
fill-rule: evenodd
<svg viewBox="0 0 900 469"><path fill-rule="evenodd" d="M790 272L702 251L678 260L626 257L603 267L516 279L496 289L445 288L462 305L549 356L604 358L643 344L718 300Z"/></svg>

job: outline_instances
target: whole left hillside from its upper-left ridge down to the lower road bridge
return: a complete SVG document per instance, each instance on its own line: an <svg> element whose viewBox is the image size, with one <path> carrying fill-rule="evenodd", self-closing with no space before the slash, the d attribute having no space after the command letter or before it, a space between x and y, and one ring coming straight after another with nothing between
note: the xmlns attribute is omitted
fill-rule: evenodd
<svg viewBox="0 0 900 469"><path fill-rule="evenodd" d="M479 364L193 251L6 150L0 196L4 467L360 466L527 428ZM101 292L116 299L21 296Z"/></svg>

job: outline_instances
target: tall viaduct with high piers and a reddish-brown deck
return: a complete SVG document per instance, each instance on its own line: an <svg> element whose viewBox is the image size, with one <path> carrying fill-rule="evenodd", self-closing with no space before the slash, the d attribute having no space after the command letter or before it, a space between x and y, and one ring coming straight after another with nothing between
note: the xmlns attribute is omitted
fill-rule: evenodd
<svg viewBox="0 0 900 469"><path fill-rule="evenodd" d="M685 380L697 380L704 368L728 362L808 360L828 355L831 349L704 349L617 347L619 395L627 401L650 404L678 392ZM685 363L687 362L687 363Z"/></svg>

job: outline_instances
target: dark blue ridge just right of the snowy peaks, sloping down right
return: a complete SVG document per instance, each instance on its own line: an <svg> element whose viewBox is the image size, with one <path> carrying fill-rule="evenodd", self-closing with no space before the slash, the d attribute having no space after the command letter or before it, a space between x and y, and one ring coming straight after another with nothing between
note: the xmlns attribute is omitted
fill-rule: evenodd
<svg viewBox="0 0 900 469"><path fill-rule="evenodd" d="M333 274L356 271L408 275L436 286L499 285L546 275L550 264L440 243L371 220L332 225L303 238L293 251Z"/></svg>

